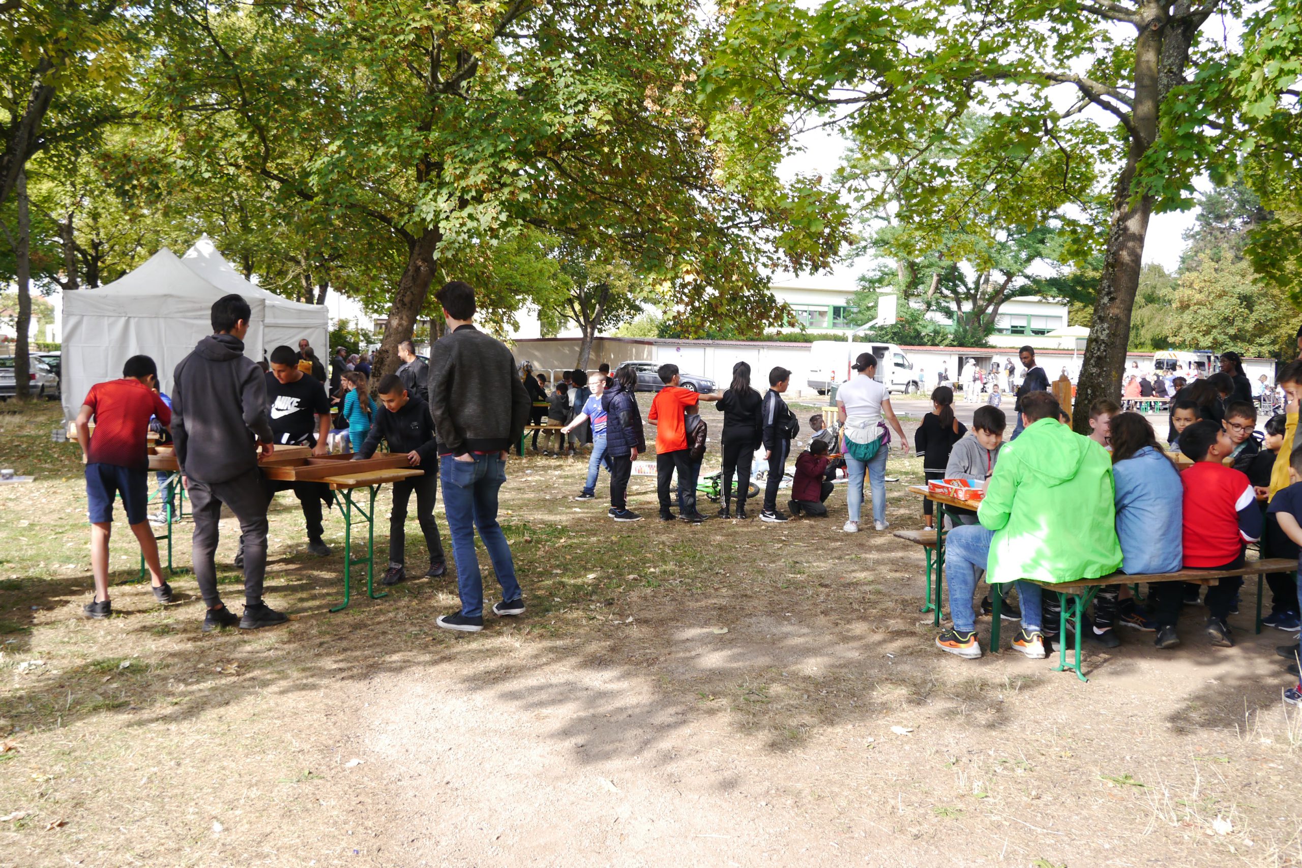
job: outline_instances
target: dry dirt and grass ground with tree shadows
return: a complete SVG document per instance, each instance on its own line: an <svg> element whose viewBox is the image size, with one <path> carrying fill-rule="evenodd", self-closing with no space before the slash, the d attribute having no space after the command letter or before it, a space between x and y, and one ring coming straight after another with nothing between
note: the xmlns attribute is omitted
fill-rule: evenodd
<svg viewBox="0 0 1302 868"><path fill-rule="evenodd" d="M0 865L1302 864L1289 636L1253 635L1254 587L1238 647L1186 608L1181 648L1128 632L1081 683L936 649L921 549L842 534L841 488L829 519L691 527L634 478L650 521L613 524L604 474L579 504L586 461L530 455L501 515L529 612L482 634L434 626L450 576L328 613L341 519L311 557L288 492L267 599L292 623L203 635L189 574L92 622L77 446L13 410L0 465L38 479L0 485ZM892 530L921 526L918 461L888 472ZM417 574L421 548L413 519ZM133 579L121 524L112 552Z"/></svg>

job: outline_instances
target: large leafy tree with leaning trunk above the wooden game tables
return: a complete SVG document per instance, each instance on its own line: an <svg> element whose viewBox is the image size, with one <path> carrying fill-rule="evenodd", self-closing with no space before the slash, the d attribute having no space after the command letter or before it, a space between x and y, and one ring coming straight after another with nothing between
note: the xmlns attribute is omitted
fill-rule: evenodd
<svg viewBox="0 0 1302 868"><path fill-rule="evenodd" d="M385 371L431 281L525 226L664 281L689 331L763 325L766 267L831 262L836 197L733 170L710 137L712 21L689 0L191 4L151 86L191 173L264 180L402 251Z"/></svg>

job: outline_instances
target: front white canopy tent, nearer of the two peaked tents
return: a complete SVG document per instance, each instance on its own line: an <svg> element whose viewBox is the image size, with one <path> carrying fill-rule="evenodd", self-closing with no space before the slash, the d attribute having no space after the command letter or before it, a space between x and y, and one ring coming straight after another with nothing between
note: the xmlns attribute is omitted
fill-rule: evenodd
<svg viewBox="0 0 1302 868"><path fill-rule="evenodd" d="M164 247L112 284L64 293L64 415L73 419L90 388L122 376L122 364L138 354L154 358L159 384L168 392L177 363L212 334L212 303L230 292L186 268ZM266 301L256 292L234 292L253 311L245 355L260 359Z"/></svg>

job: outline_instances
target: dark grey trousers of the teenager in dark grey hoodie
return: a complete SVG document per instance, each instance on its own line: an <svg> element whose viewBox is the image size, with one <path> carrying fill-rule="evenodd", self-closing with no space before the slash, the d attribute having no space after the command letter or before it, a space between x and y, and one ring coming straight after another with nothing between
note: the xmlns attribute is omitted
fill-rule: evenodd
<svg viewBox="0 0 1302 868"><path fill-rule="evenodd" d="M217 593L217 522L225 505L240 519L240 532L245 548L245 605L262 603L262 584L267 574L267 491L262 485L262 471L256 467L224 483L204 483L190 478L190 515L194 536L190 560L199 593L211 609L221 603Z"/></svg>

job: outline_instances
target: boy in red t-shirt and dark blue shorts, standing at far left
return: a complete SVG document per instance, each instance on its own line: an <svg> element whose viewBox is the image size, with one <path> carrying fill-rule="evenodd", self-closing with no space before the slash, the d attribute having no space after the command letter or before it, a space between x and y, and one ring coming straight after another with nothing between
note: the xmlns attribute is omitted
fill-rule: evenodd
<svg viewBox="0 0 1302 868"><path fill-rule="evenodd" d="M90 504L90 569L95 597L86 604L87 618L113 613L108 600L108 537L113 528L113 495L121 492L126 523L141 543L150 569L154 596L172 603L172 586L163 580L159 544L150 528L148 489L150 418L172 423L172 411L155 392L158 367L147 355L133 355L122 366L122 379L96 383L77 414L77 441L86 463L86 500ZM91 436L90 420L95 418Z"/></svg>

